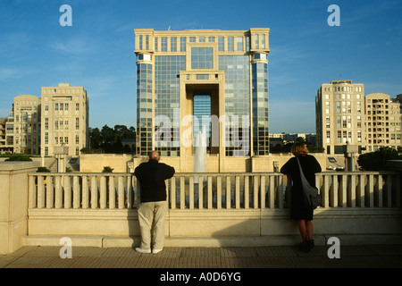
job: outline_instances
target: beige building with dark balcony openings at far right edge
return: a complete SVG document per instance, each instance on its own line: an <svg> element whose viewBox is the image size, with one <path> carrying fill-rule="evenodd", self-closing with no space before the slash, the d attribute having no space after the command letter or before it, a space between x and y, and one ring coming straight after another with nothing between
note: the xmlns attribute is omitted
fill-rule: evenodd
<svg viewBox="0 0 402 286"><path fill-rule="evenodd" d="M383 93L365 96L366 148L373 152L380 147L401 146L401 115L398 99Z"/></svg>

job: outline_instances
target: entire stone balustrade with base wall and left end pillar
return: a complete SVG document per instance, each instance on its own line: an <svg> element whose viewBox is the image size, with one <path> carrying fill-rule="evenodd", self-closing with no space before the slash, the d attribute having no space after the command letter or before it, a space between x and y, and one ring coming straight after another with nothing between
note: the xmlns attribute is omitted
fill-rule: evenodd
<svg viewBox="0 0 402 286"><path fill-rule="evenodd" d="M400 243L402 162L389 172L320 172L314 240ZM139 244L138 181L131 173L35 172L34 162L0 164L0 254L24 245ZM293 245L289 178L278 172L176 173L166 181L167 246Z"/></svg>

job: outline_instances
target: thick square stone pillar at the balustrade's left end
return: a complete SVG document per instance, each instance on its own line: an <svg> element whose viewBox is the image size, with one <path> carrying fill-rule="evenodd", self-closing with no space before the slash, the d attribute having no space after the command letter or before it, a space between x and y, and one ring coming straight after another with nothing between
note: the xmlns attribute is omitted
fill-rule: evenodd
<svg viewBox="0 0 402 286"><path fill-rule="evenodd" d="M0 255L21 248L28 234L28 173L39 162L0 163Z"/></svg>

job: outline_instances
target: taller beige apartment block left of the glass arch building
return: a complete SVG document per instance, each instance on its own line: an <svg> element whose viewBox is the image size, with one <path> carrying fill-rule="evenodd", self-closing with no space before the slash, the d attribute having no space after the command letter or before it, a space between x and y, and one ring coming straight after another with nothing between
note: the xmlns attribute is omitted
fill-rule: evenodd
<svg viewBox="0 0 402 286"><path fill-rule="evenodd" d="M45 156L54 147L68 147L67 156L79 156L88 141L88 96L83 87L60 83L42 88L41 142Z"/></svg>

